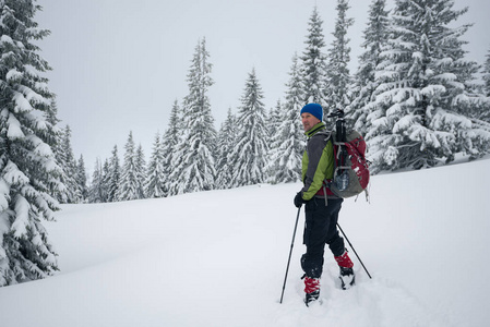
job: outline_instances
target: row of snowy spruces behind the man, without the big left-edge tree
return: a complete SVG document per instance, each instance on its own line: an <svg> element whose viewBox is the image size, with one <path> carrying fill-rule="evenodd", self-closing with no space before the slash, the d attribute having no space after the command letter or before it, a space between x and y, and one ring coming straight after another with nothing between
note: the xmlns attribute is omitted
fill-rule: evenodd
<svg viewBox="0 0 490 327"><path fill-rule="evenodd" d="M449 27L467 8L454 10L450 0L396 1L390 12L385 2L370 5L355 74L348 69L347 32L354 23L348 1L337 1L330 47L314 8L306 48L292 57L285 98L267 110L252 69L241 106L236 113L229 110L217 132L207 98L213 85L210 53L205 39L200 40L188 73L189 94L181 105L175 101L147 167L141 146L133 150L130 133L122 168L117 147L110 160L96 164L88 202L299 181L304 146L299 111L311 101L323 106L325 117L345 110L349 126L366 136L373 173L451 162L456 154L470 160L487 154L490 55L483 65L465 60L461 36L470 25ZM478 73L483 84L477 83ZM110 196L104 191L109 187L117 190Z"/></svg>

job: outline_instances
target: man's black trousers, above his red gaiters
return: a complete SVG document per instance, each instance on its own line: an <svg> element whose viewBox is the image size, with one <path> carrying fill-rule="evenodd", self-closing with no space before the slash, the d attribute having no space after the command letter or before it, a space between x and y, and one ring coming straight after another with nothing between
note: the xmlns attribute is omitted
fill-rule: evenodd
<svg viewBox="0 0 490 327"><path fill-rule="evenodd" d="M344 239L338 235L337 220L343 199L325 199L313 197L307 202L304 214L303 244L307 253L301 256L301 268L310 278L320 278L323 271L323 253L328 244L334 256L344 254Z"/></svg>

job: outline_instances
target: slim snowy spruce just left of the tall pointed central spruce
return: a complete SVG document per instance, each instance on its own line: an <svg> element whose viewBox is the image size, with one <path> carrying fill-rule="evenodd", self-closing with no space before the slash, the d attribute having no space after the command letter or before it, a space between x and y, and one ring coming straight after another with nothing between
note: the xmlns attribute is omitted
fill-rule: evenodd
<svg viewBox="0 0 490 327"><path fill-rule="evenodd" d="M174 156L180 143L180 132L182 130L179 111L179 104L176 100L170 111L168 128L162 137L164 196L175 195L170 193L172 184L170 175L174 173L172 162L177 161Z"/></svg>

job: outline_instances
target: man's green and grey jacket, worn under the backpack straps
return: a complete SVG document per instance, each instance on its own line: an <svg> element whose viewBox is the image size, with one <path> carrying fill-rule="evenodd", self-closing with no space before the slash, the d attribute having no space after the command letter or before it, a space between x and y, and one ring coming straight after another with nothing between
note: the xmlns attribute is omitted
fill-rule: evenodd
<svg viewBox="0 0 490 327"><path fill-rule="evenodd" d="M327 135L325 123L320 122L304 134L308 136L307 149L302 157L301 180L304 183L302 197L304 201L313 196L336 197L332 191L324 187L323 181L334 175L334 154L332 141L325 140Z"/></svg>

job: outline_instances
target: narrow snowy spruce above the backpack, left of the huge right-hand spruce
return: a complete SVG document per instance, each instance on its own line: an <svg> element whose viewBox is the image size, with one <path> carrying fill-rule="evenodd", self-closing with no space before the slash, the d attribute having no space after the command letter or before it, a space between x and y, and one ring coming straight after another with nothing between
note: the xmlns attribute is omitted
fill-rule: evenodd
<svg viewBox="0 0 490 327"><path fill-rule="evenodd" d="M367 118L370 112L366 106L372 101L372 94L378 87L374 77L375 68L380 64L380 53L389 37L390 17L386 0L373 0L369 7L368 26L363 31L364 52L359 57L359 68L354 78L355 98L350 104L346 118L361 135L367 133Z"/></svg>

